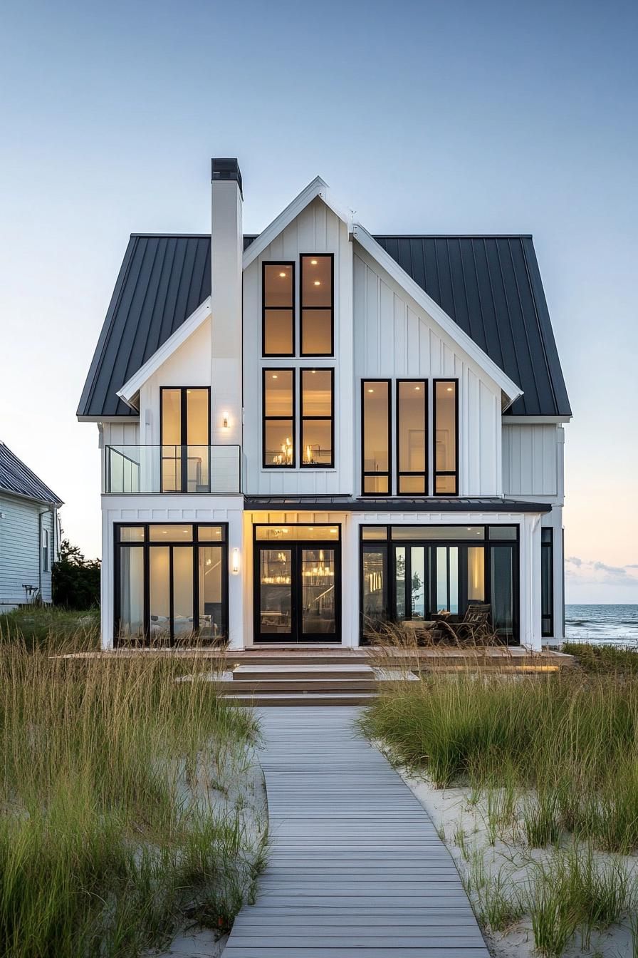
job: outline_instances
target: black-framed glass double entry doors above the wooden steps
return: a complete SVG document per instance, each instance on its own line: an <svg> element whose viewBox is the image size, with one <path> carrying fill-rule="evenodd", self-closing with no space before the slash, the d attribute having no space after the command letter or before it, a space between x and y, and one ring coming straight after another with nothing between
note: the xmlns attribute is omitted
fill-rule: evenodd
<svg viewBox="0 0 638 958"><path fill-rule="evenodd" d="M339 542L255 542L254 586L255 642L341 642Z"/></svg>

